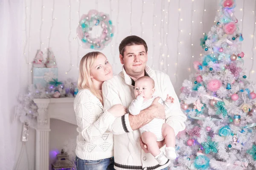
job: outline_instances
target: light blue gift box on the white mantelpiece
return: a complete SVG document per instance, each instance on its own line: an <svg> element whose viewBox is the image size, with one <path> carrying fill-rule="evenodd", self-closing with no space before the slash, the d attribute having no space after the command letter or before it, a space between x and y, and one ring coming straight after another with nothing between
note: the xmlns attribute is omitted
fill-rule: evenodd
<svg viewBox="0 0 256 170"><path fill-rule="evenodd" d="M44 80L44 75L47 72L52 72L55 78L58 78L58 68L35 68L33 67L33 84L40 84L42 87L47 87L47 82Z"/></svg>

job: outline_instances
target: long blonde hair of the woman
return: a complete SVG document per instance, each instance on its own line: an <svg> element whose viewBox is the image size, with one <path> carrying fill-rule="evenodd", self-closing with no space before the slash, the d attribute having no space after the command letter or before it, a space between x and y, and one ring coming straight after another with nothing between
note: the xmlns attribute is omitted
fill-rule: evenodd
<svg viewBox="0 0 256 170"><path fill-rule="evenodd" d="M93 51L85 54L85 56L81 59L79 65L79 78L77 82L77 87L79 88L79 90L89 89L92 94L94 94L100 100L100 102L103 103L102 93L94 87L93 81L90 78L90 69L92 68L93 63L95 62L99 54L102 53L99 51Z"/></svg>

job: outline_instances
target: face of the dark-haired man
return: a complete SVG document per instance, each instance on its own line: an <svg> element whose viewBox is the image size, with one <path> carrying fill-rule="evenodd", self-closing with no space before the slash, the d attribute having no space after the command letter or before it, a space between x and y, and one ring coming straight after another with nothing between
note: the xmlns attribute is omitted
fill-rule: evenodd
<svg viewBox="0 0 256 170"><path fill-rule="evenodd" d="M142 74L148 61L144 45L126 46L124 56L119 55L121 63L125 66L125 71L131 77Z"/></svg>

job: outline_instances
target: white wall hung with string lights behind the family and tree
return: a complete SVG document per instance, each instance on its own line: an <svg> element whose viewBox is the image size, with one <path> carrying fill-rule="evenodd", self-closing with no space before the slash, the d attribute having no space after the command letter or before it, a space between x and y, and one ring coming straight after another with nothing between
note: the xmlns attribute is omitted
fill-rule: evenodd
<svg viewBox="0 0 256 170"><path fill-rule="evenodd" d="M213 21L215 11L218 9L219 0L194 0L194 2L192 0L170 0L170 2L168 0L144 1L145 3L143 4L143 0L132 0L131 8L130 0L81 0L81 2L79 0L24 0L24 7L22 7L25 9L23 13L23 40L25 41L23 42L23 53L25 52L26 54L20 57L21 89L25 89L25 86L31 83L31 65L26 64L26 60L27 63L32 62L36 50L40 49L40 46L44 53L48 46L52 48L58 63L59 80L65 80L67 78L76 79L78 77L77 66L81 59L79 56L83 57L84 54L91 51L90 49L79 48L81 42L76 39L73 40L73 38L76 38L79 14L81 16L81 14L87 14L90 9L98 9L98 11L110 14L113 25L115 26L115 35L111 44L102 50L113 65L114 73L117 74L121 70L118 58L119 43L124 37L130 35L131 32L131 34L138 35L147 42L148 65L154 66L154 69L168 73L179 94L178 89L183 80L191 73L189 68L191 67L192 72L194 72L192 62L198 59L200 54L204 52L199 45L200 38L203 37L203 32L208 32L211 26L215 24ZM155 2L154 5L153 2ZM180 19L182 21L178 20L179 2L181 9ZM192 5L192 3L194 4ZM243 8L243 3L244 10L240 11L240 8ZM28 8L25 8L25 6ZM243 32L244 42L242 50L246 55L244 57L244 65L247 68L247 73L253 64L250 58L253 56L253 51L255 52L254 48L252 50L254 39L251 37L251 34L254 34L253 28L255 26L254 6L254 0L237 0L235 13L239 20L240 29ZM194 12L194 10L196 11ZM131 14L130 11L132 11ZM56 20L53 20L53 24L52 15L53 18L56 18ZM155 15L154 20L153 15ZM70 23L69 18L71 19ZM241 25L242 22L240 21L242 18L244 18L243 25ZM161 19L163 19L162 26L160 24ZM192 23L192 20L194 23ZM166 22L168 23L166 24ZM156 24L156 26L153 24ZM51 28L52 34L50 36ZM167 28L169 29L167 30ZM182 30L182 32L179 30ZM191 37L189 33L192 33ZM68 38L69 34L70 38ZM179 34L179 39L177 39ZM40 45L40 39L44 44ZM181 44L177 43L180 41L182 42ZM180 55L177 55L178 52L180 52ZM163 65L160 64L162 59ZM168 64L169 67L167 66ZM69 70L70 65L73 65L71 66L72 69L65 74ZM253 69L256 68L253 67ZM175 77L175 73L177 73L177 77ZM251 74L251 79L255 80L255 73ZM9 110L9 114L12 114L12 112L13 110ZM21 127L21 125L17 126ZM57 129L59 126L63 129ZM69 139L77 133L75 130L76 126L66 126L65 123L55 119L51 120L51 128L51 149L61 148L63 146L61 141L65 138ZM19 134L21 130L15 131ZM59 137L53 138L54 136ZM17 140L20 141L19 136ZM30 170L34 170L35 166L34 142L35 133L34 130L30 130L27 145ZM21 142L18 142L16 153L19 153L20 144ZM17 156L18 154L15 155L15 160L17 160ZM21 163L20 170L27 170L28 164L25 155L23 155Z"/></svg>

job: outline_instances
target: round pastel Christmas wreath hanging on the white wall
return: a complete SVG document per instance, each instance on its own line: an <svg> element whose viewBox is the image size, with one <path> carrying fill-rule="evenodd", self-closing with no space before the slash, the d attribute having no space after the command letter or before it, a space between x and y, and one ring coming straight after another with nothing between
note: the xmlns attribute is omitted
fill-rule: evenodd
<svg viewBox="0 0 256 170"><path fill-rule="evenodd" d="M93 30L93 26L101 26L102 34L95 37L89 33ZM77 35L82 41L84 48L91 48L96 50L102 50L111 41L114 36L114 27L108 14L98 12L96 10L90 10L88 14L83 14L79 21L77 28Z"/></svg>

